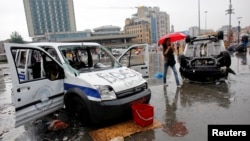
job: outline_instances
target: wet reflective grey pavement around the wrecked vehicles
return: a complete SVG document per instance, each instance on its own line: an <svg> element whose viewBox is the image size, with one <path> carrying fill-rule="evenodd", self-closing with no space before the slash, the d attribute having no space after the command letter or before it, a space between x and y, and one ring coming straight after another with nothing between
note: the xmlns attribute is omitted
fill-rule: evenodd
<svg viewBox="0 0 250 141"><path fill-rule="evenodd" d="M168 73L168 87L153 78L162 71L161 58L152 54L151 78L148 79L152 91L150 104L154 106L154 118L163 124L162 128L136 133L126 137L126 141L205 141L210 124L250 124L250 52L232 53L231 68L236 75L229 74L224 83L192 83L183 81L177 88L171 69ZM154 67L153 67L154 66ZM179 64L176 65L179 68ZM1 68L1 65L0 65ZM36 122L14 128L14 108L11 105L11 79L0 76L0 140L40 141L40 140L84 140L91 141L88 132L101 128L86 128L67 116L63 110L48 115ZM52 132L46 123L62 119L70 127Z"/></svg>

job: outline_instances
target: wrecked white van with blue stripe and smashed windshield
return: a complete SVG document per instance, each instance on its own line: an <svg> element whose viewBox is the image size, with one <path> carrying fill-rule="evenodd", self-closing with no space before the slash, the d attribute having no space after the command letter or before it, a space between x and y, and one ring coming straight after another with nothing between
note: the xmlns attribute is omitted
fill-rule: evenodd
<svg viewBox="0 0 250 141"><path fill-rule="evenodd" d="M60 108L86 125L112 121L129 115L132 104L150 101L142 74L122 66L100 44L5 43L4 47L16 127Z"/></svg>

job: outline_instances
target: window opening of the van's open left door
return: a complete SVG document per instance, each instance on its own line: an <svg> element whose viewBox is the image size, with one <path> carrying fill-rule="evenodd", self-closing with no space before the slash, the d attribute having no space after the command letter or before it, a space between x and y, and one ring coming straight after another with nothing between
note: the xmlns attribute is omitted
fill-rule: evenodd
<svg viewBox="0 0 250 141"><path fill-rule="evenodd" d="M39 50L12 49L12 53L16 54L15 66L19 81L22 83L46 78L56 80L64 76L62 68Z"/></svg>

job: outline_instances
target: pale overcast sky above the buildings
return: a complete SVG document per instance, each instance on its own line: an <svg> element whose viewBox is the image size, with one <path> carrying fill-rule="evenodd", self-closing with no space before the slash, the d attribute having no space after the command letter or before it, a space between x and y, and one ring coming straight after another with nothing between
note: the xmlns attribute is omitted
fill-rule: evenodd
<svg viewBox="0 0 250 141"><path fill-rule="evenodd" d="M198 26L199 0L73 0L77 31L93 29L103 25L119 26L123 30L125 19L131 18L137 12L136 7L159 7L170 15L170 24L175 31L188 30ZM229 25L230 0L200 0L200 27L217 30L223 25ZM231 16L232 26L250 25L250 0L231 0L234 14ZM207 11L207 14L205 14ZM206 15L206 16L205 16ZM207 17L207 18L205 18ZM10 38L17 31L26 41L28 35L23 0L0 0L0 40Z"/></svg>

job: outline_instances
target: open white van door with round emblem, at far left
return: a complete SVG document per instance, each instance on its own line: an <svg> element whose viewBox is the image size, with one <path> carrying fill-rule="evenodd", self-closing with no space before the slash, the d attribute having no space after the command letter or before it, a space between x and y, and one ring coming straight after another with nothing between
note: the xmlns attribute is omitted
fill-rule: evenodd
<svg viewBox="0 0 250 141"><path fill-rule="evenodd" d="M15 127L63 108L64 71L61 65L39 47L11 43L5 43L4 47L12 78ZM20 60L16 58L19 51L29 52L29 60L26 60L23 68L29 69L32 77L20 79Z"/></svg>

